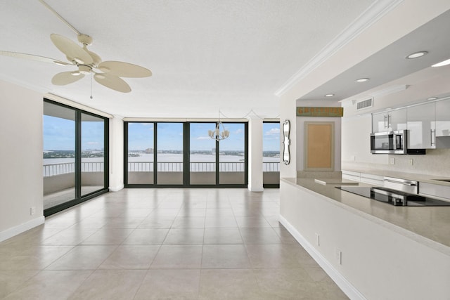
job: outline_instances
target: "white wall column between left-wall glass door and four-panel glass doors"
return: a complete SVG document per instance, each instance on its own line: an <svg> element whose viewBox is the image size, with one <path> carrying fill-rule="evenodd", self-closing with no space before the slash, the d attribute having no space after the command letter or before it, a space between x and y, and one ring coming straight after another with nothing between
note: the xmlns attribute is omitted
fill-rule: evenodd
<svg viewBox="0 0 450 300"><path fill-rule="evenodd" d="M110 119L110 191L124 188L124 122L122 117Z"/></svg>

